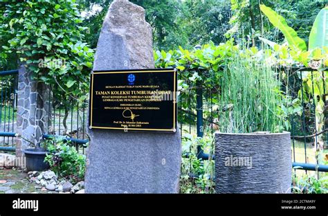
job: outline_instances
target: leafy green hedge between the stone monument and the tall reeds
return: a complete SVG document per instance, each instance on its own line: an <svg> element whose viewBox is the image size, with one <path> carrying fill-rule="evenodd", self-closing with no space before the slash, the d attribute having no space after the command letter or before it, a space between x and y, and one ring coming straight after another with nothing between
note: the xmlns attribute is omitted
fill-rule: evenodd
<svg viewBox="0 0 328 216"><path fill-rule="evenodd" d="M181 109L194 114L196 104L196 89L203 88L204 92L212 91L211 95L204 93L204 98L212 98L212 102L217 102L217 94L220 86L220 79L224 71L222 68L230 60L234 46L233 39L225 44L215 46L214 43L205 44L199 49L187 50L179 47L176 51L156 51L155 64L158 68L176 66L179 69L179 91ZM206 91L206 90L207 91ZM210 106L203 107L206 118L210 115ZM187 120L188 114L179 116L179 120ZM217 118L217 116L213 116ZM189 119L190 120L190 119Z"/></svg>

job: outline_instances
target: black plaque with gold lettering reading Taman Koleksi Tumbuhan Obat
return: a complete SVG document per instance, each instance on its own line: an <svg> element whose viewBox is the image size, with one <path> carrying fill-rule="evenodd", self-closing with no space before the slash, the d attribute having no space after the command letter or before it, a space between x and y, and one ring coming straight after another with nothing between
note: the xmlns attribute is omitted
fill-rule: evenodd
<svg viewBox="0 0 328 216"><path fill-rule="evenodd" d="M176 132L175 69L93 71L90 129Z"/></svg>

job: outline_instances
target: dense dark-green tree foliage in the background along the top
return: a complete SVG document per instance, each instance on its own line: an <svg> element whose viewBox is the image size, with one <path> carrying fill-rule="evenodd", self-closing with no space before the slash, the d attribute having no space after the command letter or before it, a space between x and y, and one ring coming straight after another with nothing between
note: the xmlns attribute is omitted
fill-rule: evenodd
<svg viewBox="0 0 328 216"><path fill-rule="evenodd" d="M89 13L83 25L90 28L86 41L95 48L112 0L78 0L81 10ZM146 10L146 19L154 29L156 49L170 50L179 46L192 48L196 44L226 42L226 36L252 39L257 36L282 42L282 33L273 28L259 10L259 4L273 8L286 18L291 28L306 42L314 19L325 6L324 0L131 0ZM98 12L95 12L98 8ZM104 8L104 10L102 10ZM99 10L101 10L99 12ZM228 33L227 33L228 31Z"/></svg>

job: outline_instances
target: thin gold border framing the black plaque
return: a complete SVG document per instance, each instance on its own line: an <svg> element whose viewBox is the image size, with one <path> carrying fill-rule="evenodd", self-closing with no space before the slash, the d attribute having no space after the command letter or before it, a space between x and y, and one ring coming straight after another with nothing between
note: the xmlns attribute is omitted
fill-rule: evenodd
<svg viewBox="0 0 328 216"><path fill-rule="evenodd" d="M141 128L122 128L122 127L94 127L92 126L92 117L93 117L93 76L94 75L98 75L98 74L110 74L110 73L170 73L173 72L174 73L174 93L173 93L173 128L172 129L141 129ZM172 70L166 70L166 71L162 71L162 70L149 70L149 71L102 71L102 72L98 72L98 71L94 71L93 73L91 73L91 116L90 116L90 128L91 129L118 129L118 130L136 130L136 131L153 131L153 132L176 132L176 69L172 69Z"/></svg>

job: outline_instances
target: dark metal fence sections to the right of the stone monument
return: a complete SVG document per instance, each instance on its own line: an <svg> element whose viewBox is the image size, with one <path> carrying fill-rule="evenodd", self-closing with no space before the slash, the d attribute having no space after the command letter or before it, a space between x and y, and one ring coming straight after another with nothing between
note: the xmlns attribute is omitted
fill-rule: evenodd
<svg viewBox="0 0 328 216"><path fill-rule="evenodd" d="M309 68L280 68L278 71L287 75L285 83L282 83L282 91L291 96L292 99L299 98L302 107L300 114L290 116L293 168L300 171L304 170L303 172L309 170L328 172L328 151L326 150L328 118L325 117L328 114L326 100L327 70L318 72ZM199 72L201 73L201 71ZM304 86L303 78L306 77L309 79L306 86ZM213 109L214 106L218 106L216 102L213 102L213 91L216 91L214 84L210 83L205 88L201 82L197 82L188 91L180 94L179 122L182 137L185 133L197 134L198 137L203 137L204 134L212 136L212 133L218 129L215 119L219 117L219 111ZM322 107L324 111L320 118L325 124L319 125L320 129L318 129L319 114L316 110L318 102L324 105ZM196 104L196 106L192 107L192 104ZM318 116L316 116L317 114ZM214 148L214 145L212 145L212 148ZM206 154L198 146L197 158L203 160L213 159L215 156L212 148L206 150ZM318 151L321 151L322 156L325 158L319 159ZM187 152L184 156L188 157L188 154L193 153ZM322 162L325 159L326 163Z"/></svg>

